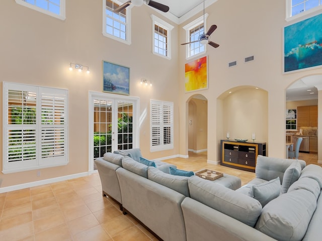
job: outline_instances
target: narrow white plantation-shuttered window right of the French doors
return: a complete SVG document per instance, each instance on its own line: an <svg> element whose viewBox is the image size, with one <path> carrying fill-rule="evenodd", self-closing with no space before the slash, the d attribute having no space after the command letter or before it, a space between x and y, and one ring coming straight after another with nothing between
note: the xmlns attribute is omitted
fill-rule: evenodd
<svg viewBox="0 0 322 241"><path fill-rule="evenodd" d="M173 102L151 100L150 102L150 151L174 148L173 143Z"/></svg>

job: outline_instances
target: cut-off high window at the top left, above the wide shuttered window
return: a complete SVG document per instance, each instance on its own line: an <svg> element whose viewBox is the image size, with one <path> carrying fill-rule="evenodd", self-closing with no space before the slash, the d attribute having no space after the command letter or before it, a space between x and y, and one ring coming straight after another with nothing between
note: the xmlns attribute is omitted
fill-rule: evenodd
<svg viewBox="0 0 322 241"><path fill-rule="evenodd" d="M16 0L17 4L65 20L65 0Z"/></svg>

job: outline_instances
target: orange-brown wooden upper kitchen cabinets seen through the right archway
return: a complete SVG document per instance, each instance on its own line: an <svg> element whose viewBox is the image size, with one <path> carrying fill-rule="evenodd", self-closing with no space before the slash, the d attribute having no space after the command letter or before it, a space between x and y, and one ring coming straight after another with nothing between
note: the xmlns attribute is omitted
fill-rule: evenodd
<svg viewBox="0 0 322 241"><path fill-rule="evenodd" d="M317 127L317 105L297 106L297 129Z"/></svg>

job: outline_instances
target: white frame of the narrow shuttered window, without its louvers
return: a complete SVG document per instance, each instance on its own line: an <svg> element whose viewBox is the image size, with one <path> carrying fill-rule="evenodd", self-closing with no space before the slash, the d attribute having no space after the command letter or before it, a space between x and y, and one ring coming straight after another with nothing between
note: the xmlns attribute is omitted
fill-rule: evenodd
<svg viewBox="0 0 322 241"><path fill-rule="evenodd" d="M160 124L153 124L152 123L152 104L156 105L167 105L172 107L172 113L171 113L171 124L167 125L171 128L171 143L170 144L163 144L164 141L164 136L163 136L163 130L162 128L165 126L164 123ZM161 114L161 118L163 119L164 115L163 113ZM152 146L152 128L153 127L160 127L160 144ZM150 100L150 152L158 152L158 151L165 151L165 150L170 150L174 149L174 103L173 102L168 102L168 101L159 101L159 100Z"/></svg>

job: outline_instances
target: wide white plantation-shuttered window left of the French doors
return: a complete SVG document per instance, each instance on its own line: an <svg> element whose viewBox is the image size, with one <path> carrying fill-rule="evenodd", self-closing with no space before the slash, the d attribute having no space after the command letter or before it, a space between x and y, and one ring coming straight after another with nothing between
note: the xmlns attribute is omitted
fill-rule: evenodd
<svg viewBox="0 0 322 241"><path fill-rule="evenodd" d="M67 94L4 82L3 173L68 163Z"/></svg>

